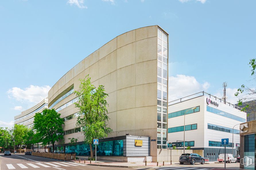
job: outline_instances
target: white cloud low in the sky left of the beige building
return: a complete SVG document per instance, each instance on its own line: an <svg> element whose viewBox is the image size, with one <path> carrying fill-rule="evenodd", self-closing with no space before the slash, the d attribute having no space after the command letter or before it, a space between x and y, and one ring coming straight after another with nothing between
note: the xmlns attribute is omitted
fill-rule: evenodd
<svg viewBox="0 0 256 170"><path fill-rule="evenodd" d="M24 90L19 87L13 87L7 91L10 98L14 98L21 102L39 103L48 96L48 92L51 89L50 86L34 86L30 85Z"/></svg>

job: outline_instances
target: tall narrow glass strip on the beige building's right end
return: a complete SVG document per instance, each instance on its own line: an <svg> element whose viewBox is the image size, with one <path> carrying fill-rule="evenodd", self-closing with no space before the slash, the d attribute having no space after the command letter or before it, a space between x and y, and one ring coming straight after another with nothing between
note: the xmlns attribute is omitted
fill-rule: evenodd
<svg viewBox="0 0 256 170"><path fill-rule="evenodd" d="M157 37L157 148L167 149L168 41L159 28Z"/></svg>

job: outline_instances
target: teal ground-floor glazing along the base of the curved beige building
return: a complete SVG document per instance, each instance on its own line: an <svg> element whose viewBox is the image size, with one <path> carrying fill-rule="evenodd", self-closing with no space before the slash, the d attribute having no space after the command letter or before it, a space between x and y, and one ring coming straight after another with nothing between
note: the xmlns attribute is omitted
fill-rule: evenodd
<svg viewBox="0 0 256 170"><path fill-rule="evenodd" d="M93 146L95 150L95 146ZM64 147L56 147L57 153L63 153ZM65 153L75 153L80 156L90 156L90 146L88 144L69 145L65 147ZM95 151L93 153L95 155ZM123 156L123 140L99 142L97 146L98 156Z"/></svg>

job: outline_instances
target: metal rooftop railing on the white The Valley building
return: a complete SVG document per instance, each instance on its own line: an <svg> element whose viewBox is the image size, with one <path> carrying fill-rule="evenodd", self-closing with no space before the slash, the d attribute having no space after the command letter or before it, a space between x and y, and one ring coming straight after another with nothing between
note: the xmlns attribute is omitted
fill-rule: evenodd
<svg viewBox="0 0 256 170"><path fill-rule="evenodd" d="M230 102L224 102L223 99L220 99L214 95L211 95L210 93L206 93L205 91L201 91L201 92L198 92L198 93L195 93L193 95L189 95L189 96L186 96L186 97L183 97L183 98L180 98L180 99L177 99L177 100L174 100L174 101L170 101L168 102L168 106L170 105L174 105L176 103L181 103L183 101L187 101L187 100L190 100L190 99L194 99L194 98L197 98L197 97L200 97L200 96L206 96L206 97L209 97L210 99L212 100L215 100L215 101L218 101L220 103L223 103L223 104L226 104L226 105L229 105L230 107L233 107L235 109L238 109L238 110L241 110L241 107L238 107Z"/></svg>

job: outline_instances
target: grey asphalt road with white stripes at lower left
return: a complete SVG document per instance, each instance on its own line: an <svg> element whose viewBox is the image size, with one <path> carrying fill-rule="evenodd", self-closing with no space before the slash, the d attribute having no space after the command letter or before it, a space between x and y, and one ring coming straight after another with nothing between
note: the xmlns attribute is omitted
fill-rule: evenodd
<svg viewBox="0 0 256 170"><path fill-rule="evenodd" d="M98 167L91 165L75 164L71 161L58 161L54 159L36 157L24 154L0 154L0 170L9 169L35 169L35 170L93 170L93 169L120 169L114 167ZM129 169L129 168L122 168Z"/></svg>

